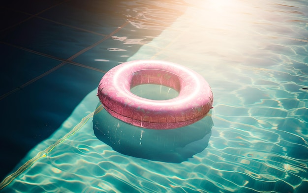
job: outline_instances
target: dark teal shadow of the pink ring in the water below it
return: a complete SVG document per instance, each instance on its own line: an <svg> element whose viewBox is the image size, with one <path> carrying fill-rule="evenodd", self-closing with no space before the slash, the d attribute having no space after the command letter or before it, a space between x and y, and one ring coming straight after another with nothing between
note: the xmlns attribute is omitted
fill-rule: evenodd
<svg viewBox="0 0 308 193"><path fill-rule="evenodd" d="M100 108L96 108L93 116L95 136L115 151L169 163L182 163L202 152L208 146L212 127L210 114L191 125L168 130L132 126Z"/></svg>

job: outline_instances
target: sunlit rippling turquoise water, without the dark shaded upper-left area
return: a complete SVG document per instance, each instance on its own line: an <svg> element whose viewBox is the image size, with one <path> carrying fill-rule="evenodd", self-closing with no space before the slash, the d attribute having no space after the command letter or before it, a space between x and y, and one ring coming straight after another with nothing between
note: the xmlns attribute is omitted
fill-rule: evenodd
<svg viewBox="0 0 308 193"><path fill-rule="evenodd" d="M113 36L119 45L110 44L110 55L168 60L195 70L214 93L209 116L190 128L191 136L175 130L161 137L119 122L107 129L112 120L102 114L93 88L4 179L1 192L305 193L308 1L142 2L126 3L127 25L161 33L146 41L145 33L123 27ZM132 18L139 10L143 15ZM166 25L176 11L181 14ZM141 37L140 48L127 54ZM118 64L98 55L100 48L74 61L102 71ZM95 125L110 136L95 133ZM149 151L134 146L140 141L148 142Z"/></svg>

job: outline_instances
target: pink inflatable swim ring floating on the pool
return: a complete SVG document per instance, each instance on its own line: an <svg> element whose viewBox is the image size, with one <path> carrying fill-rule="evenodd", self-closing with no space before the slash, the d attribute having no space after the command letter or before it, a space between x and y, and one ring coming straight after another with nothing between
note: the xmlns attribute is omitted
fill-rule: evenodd
<svg viewBox="0 0 308 193"><path fill-rule="evenodd" d="M159 84L178 91L168 100L151 100L131 93L140 84ZM134 60L120 64L101 79L97 93L112 116L134 126L174 129L202 119L212 108L213 93L204 78L175 63Z"/></svg>

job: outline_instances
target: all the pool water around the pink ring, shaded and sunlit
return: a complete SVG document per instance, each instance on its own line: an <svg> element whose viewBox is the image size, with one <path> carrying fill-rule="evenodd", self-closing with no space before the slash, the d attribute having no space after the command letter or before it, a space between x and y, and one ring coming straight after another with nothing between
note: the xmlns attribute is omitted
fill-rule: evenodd
<svg viewBox="0 0 308 193"><path fill-rule="evenodd" d="M308 190L307 0L49 3L1 7L0 192ZM201 74L214 108L163 132L113 119L96 88L134 59Z"/></svg>

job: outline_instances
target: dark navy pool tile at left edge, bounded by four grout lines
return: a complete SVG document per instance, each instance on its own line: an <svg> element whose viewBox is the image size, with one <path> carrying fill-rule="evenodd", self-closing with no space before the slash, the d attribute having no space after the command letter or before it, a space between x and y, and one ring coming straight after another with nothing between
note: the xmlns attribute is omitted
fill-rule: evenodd
<svg viewBox="0 0 308 193"><path fill-rule="evenodd" d="M3 42L65 59L101 39L101 36L38 18L0 34Z"/></svg>

